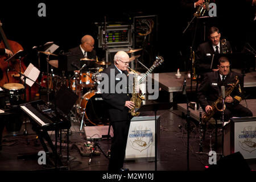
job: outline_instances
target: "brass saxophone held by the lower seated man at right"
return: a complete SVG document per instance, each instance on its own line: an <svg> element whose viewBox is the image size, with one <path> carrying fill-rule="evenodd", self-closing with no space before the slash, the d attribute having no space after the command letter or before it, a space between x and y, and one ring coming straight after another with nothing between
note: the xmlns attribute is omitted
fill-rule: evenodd
<svg viewBox="0 0 256 182"><path fill-rule="evenodd" d="M226 92L225 92L225 97L226 97L226 96L229 96L229 95L233 92L233 90L234 90L234 88L237 86L237 84L239 83L238 76L236 76L235 79L237 80L236 83L230 84L230 87L229 87L229 88L226 90ZM213 104L211 105L212 109L209 110L208 113L205 113L204 116L203 116L203 118L202 118L202 122L203 122L203 123L208 122L208 121L210 120L210 118L212 118L213 115L214 115L217 111L223 111L223 110L225 110L225 107L226 107L225 105L224 105L224 108L222 108L222 100L223 100L223 97L220 96L220 97L218 97L218 99L217 99L215 102L213 102ZM218 106L220 106L220 105L221 105L221 109L218 108Z"/></svg>

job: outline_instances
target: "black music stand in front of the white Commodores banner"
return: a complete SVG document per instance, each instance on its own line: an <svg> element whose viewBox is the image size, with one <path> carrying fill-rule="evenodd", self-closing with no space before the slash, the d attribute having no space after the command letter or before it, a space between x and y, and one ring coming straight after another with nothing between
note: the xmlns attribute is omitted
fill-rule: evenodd
<svg viewBox="0 0 256 182"><path fill-rule="evenodd" d="M154 111L155 113L155 171L157 171L157 119L156 119L156 111L158 110L167 110L171 109L171 107L174 106L174 102L164 102L164 103L155 103L155 104L147 104L147 105L142 105L141 108L139 108L137 111Z"/></svg>

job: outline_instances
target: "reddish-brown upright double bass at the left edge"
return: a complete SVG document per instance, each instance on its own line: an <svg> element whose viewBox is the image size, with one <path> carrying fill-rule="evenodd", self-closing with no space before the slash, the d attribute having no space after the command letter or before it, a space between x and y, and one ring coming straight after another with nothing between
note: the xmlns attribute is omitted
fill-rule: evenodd
<svg viewBox="0 0 256 182"><path fill-rule="evenodd" d="M18 51L23 51L23 47L13 40L8 40L6 38L5 32L2 28L2 23L0 21L0 36L2 40L0 39L0 48L6 48L12 51L14 54ZM24 71L27 69L26 65L24 64L23 60L9 60L6 61L8 57L6 56L0 56L0 69L2 74L0 74L0 86L3 86L7 83L20 83L20 75L18 72L24 73ZM31 93L31 96L33 97L35 93L37 92L37 88L33 88L31 92L28 92L28 89L26 90L27 96L29 93ZM27 97L28 98L28 97Z"/></svg>

